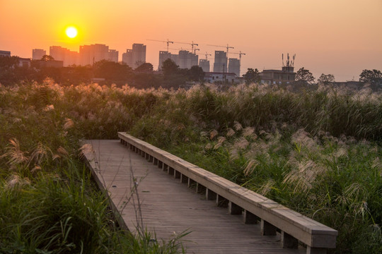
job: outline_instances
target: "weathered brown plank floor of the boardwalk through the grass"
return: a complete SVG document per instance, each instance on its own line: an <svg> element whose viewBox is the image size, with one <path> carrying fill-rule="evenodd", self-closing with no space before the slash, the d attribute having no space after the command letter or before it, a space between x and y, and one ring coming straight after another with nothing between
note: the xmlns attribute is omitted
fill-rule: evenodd
<svg viewBox="0 0 382 254"><path fill-rule="evenodd" d="M136 230L137 221L155 231L158 239L191 231L183 238L187 253L306 253L301 246L281 248L279 234L261 236L259 224L244 224L243 215L228 214L227 208L206 200L119 140L86 143L93 146L84 152L93 175L100 188L108 190L112 206L130 231Z"/></svg>

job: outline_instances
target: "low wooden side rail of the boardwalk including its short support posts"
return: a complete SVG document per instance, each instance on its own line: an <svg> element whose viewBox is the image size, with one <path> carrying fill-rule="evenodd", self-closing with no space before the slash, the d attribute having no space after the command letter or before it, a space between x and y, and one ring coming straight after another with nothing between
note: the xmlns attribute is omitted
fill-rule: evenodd
<svg viewBox="0 0 382 254"><path fill-rule="evenodd" d="M207 199L216 199L217 205L228 205L231 214L243 213L245 223L260 221L263 235L275 235L280 231L282 248L298 248L299 241L306 244L308 254L326 253L328 248L335 248L338 234L335 229L132 135L120 132L118 137L123 145L158 164L168 174L173 174L189 186L195 184L198 192L205 191Z"/></svg>

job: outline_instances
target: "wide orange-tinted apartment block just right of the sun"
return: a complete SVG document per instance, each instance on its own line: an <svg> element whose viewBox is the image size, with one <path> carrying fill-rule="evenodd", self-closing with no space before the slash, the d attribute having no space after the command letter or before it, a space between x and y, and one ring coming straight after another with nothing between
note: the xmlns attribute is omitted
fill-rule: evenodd
<svg viewBox="0 0 382 254"><path fill-rule="evenodd" d="M93 65L101 60L118 62L118 52L115 49L109 49L105 44L91 44L80 46L79 63L81 66Z"/></svg>

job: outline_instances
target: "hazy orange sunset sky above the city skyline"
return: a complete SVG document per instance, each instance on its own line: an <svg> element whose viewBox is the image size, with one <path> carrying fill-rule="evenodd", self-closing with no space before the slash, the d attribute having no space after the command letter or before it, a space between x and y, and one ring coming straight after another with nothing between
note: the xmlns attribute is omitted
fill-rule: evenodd
<svg viewBox="0 0 382 254"><path fill-rule="evenodd" d="M79 29L67 38L68 25ZM32 57L52 45L79 51L107 44L122 53L147 45L146 61L158 67L158 52L172 40L199 44L198 53L244 52L247 68L281 68L282 53L296 54L295 69L315 78L358 80L363 69L382 70L382 0L0 0L0 50ZM170 44L170 52L190 48ZM229 54L228 57L238 57ZM200 55L199 59L204 59Z"/></svg>

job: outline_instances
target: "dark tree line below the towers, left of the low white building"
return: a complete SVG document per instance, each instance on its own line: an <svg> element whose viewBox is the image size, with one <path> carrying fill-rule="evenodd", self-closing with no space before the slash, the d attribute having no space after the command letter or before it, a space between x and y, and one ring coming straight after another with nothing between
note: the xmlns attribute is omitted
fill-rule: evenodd
<svg viewBox="0 0 382 254"><path fill-rule="evenodd" d="M93 78L103 78L101 84L131 85L137 88L179 87L187 82L202 82L204 71L199 66L179 68L168 59L161 66L162 71L154 71L151 63L142 63L134 70L125 63L101 60L93 66L51 67L40 64L42 61L54 61L52 56L42 56L41 60L32 60L30 67L19 66L18 56L0 56L0 83L13 85L21 81L41 83L49 77L60 85L79 85L89 83Z"/></svg>

